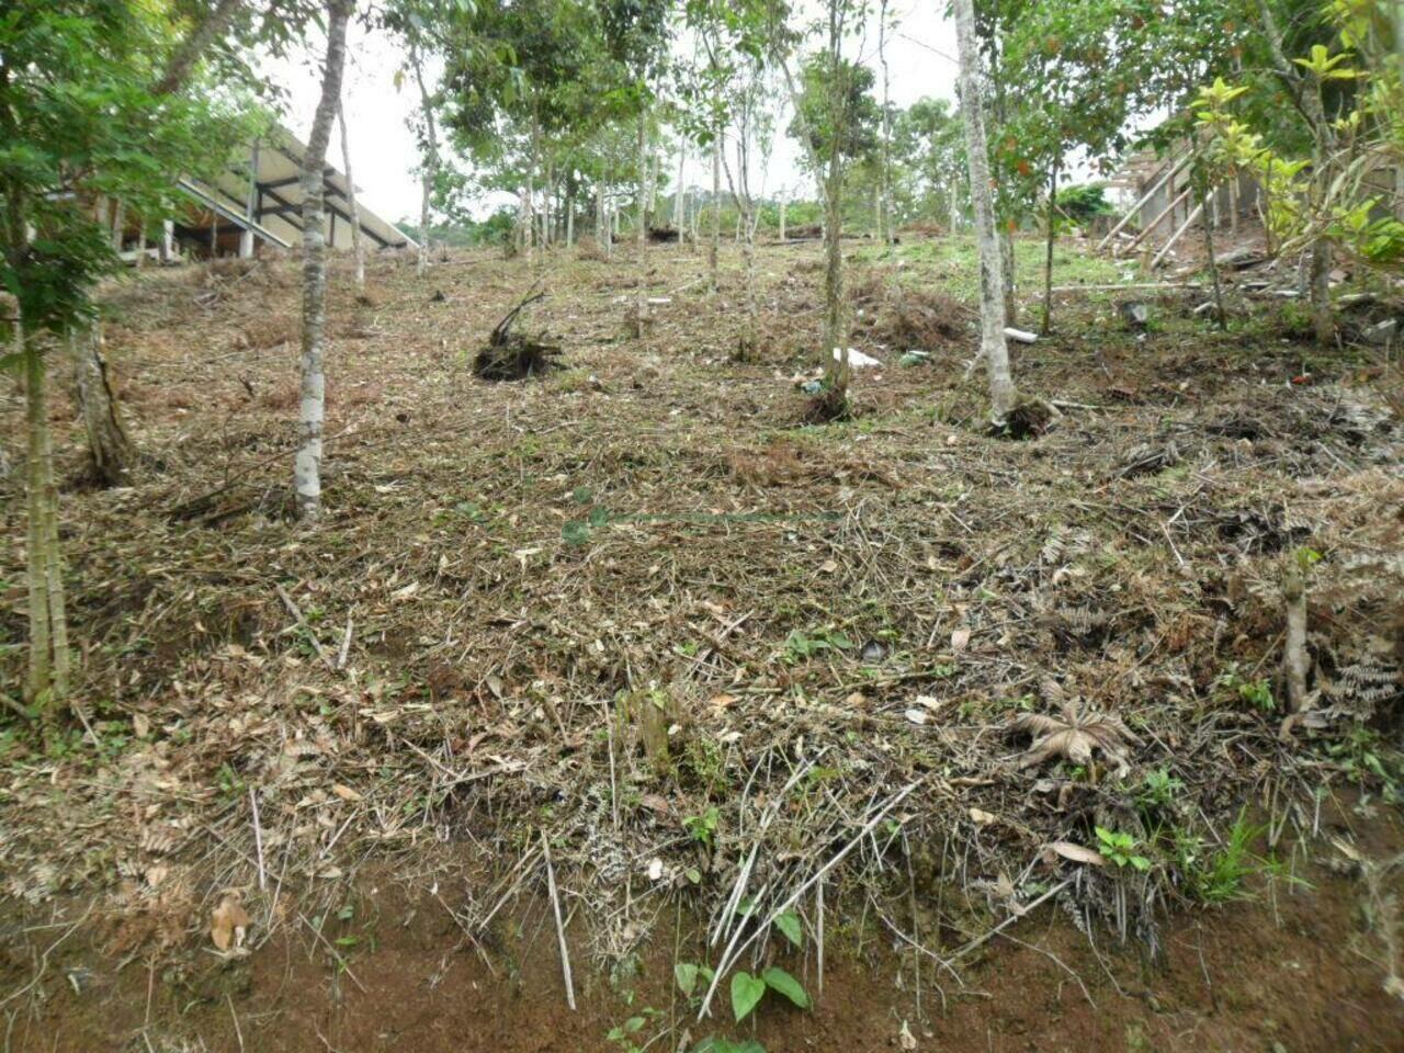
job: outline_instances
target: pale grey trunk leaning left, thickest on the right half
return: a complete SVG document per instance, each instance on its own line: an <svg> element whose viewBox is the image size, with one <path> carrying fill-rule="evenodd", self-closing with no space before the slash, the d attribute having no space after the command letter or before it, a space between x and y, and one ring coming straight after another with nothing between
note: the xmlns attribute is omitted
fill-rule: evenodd
<svg viewBox="0 0 1404 1053"><path fill-rule="evenodd" d="M994 229L973 0L955 0L955 15L956 41L960 45L960 112L965 114L970 198L974 202L976 241L980 249L980 355L990 376L990 421L998 428L1008 421L1018 396L1009 375L1009 350L1004 343L1004 265Z"/></svg>

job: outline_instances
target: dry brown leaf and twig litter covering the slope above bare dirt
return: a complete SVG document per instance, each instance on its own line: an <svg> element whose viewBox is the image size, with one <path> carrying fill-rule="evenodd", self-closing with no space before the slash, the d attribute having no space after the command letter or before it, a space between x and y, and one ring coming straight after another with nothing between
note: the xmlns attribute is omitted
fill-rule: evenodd
<svg viewBox="0 0 1404 1053"><path fill-rule="evenodd" d="M654 285L696 265L656 251ZM772 282L768 320L795 324L762 326L765 359L736 365L737 322L701 292L639 348L612 271L562 256L538 313L569 365L512 386L476 380L470 347L519 302L524 268L469 270L472 296L430 306L395 263L372 275L382 306L336 284L334 500L316 534L285 517L293 423L263 399L286 355L246 337L295 312L291 265L263 264L213 312L181 275L112 293L110 344L160 466L65 501L81 702L107 746L8 747L7 896L95 886L118 917L208 917L237 949L246 903L278 924L375 859L434 882L477 932L545 889L541 830L602 959L671 896L726 935L824 866L904 889L903 844L955 847L913 854L924 887L1022 875L1019 910L1054 896L1125 931L1090 844L1133 823L1139 772L1174 771L1214 824L1254 792L1303 802L1344 778L1220 688L1228 668L1272 675L1283 553L1310 543L1330 571L1311 647L1337 694L1310 734L1398 709L1398 658L1372 626L1404 578L1380 514L1404 504L1401 444L1367 383L1265 385L1294 372L1290 348L1202 331L1101 348L1111 382L1049 341L1021 383L1092 409L1007 442L983 434L963 348L934 347L932 369L859 380L855 421L807 427L783 379L817 326L802 282ZM197 314L199 348L177 336ZM192 427L197 407L219 425ZM789 640L841 637L882 640L880 660L833 644L781 660ZM1075 702L1040 688L1054 675ZM1040 691L1061 716L1028 712ZM1009 729L1029 750L1008 754ZM900 838L872 826L885 809ZM1311 826L1300 803L1287 819ZM1177 886L1137 880L1146 931ZM883 900L899 920L900 901ZM980 938L973 917L943 921Z"/></svg>

